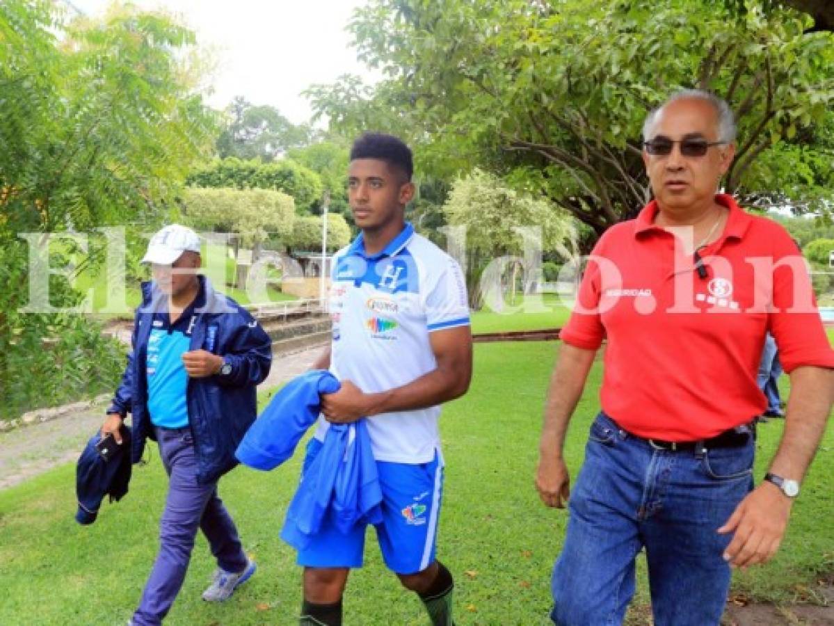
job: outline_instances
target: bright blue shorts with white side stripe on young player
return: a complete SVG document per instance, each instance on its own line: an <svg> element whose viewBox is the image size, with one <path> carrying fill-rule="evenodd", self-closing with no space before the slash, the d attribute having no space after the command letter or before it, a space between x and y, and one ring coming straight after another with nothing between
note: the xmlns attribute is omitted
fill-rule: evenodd
<svg viewBox="0 0 834 626"><path fill-rule="evenodd" d="M322 447L318 439L307 444L304 473ZM394 573L418 573L435 561L437 521L443 493L443 457L431 463L376 462L382 488L382 523L374 525L385 565ZM319 533L299 551L298 564L311 568L360 568L366 524L340 533L324 519Z"/></svg>

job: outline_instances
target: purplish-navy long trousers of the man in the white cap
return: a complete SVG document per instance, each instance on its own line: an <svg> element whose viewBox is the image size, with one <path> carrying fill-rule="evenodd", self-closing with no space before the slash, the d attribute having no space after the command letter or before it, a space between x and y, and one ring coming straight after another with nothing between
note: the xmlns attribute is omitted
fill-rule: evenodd
<svg viewBox="0 0 834 626"><path fill-rule="evenodd" d="M242 572L247 565L237 528L218 498L217 483L197 483L189 428L157 428L156 433L159 456L168 472L168 497L159 522L159 553L133 613L136 626L156 626L168 614L183 586L198 528L221 568Z"/></svg>

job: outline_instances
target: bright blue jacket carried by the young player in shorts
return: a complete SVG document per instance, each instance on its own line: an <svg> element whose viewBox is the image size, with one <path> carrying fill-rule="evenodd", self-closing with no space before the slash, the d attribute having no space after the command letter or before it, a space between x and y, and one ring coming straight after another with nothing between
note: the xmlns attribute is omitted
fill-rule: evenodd
<svg viewBox="0 0 834 626"><path fill-rule="evenodd" d="M236 453L240 462L256 469L272 469L284 463L319 418L319 393L334 393L339 387L333 374L324 370L294 378L249 428ZM289 504L281 538L303 549L326 516L344 533L356 523L379 523L381 502L365 420L330 424L321 450L301 477Z"/></svg>

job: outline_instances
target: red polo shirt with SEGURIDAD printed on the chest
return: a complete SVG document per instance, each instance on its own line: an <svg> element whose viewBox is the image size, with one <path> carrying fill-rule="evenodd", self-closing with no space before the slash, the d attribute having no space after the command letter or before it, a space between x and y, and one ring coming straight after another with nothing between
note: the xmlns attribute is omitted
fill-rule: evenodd
<svg viewBox="0 0 834 626"><path fill-rule="evenodd" d="M786 372L834 368L790 235L728 195L716 202L730 215L721 237L701 250L706 278L676 237L653 224L653 201L600 238L560 334L587 349L607 338L602 409L641 437L696 441L764 411L756 372L767 331Z"/></svg>

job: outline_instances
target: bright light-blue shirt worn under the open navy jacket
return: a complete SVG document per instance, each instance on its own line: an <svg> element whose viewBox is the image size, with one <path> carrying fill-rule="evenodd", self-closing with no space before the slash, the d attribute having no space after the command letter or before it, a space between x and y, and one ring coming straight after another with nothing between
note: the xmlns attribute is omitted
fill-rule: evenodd
<svg viewBox="0 0 834 626"><path fill-rule="evenodd" d="M191 345L191 331L197 321L195 308L205 302L202 288L173 324L167 310L153 313L148 348L145 355L145 376L148 380L148 413L151 423L161 428L188 426L188 372L183 353Z"/></svg>

